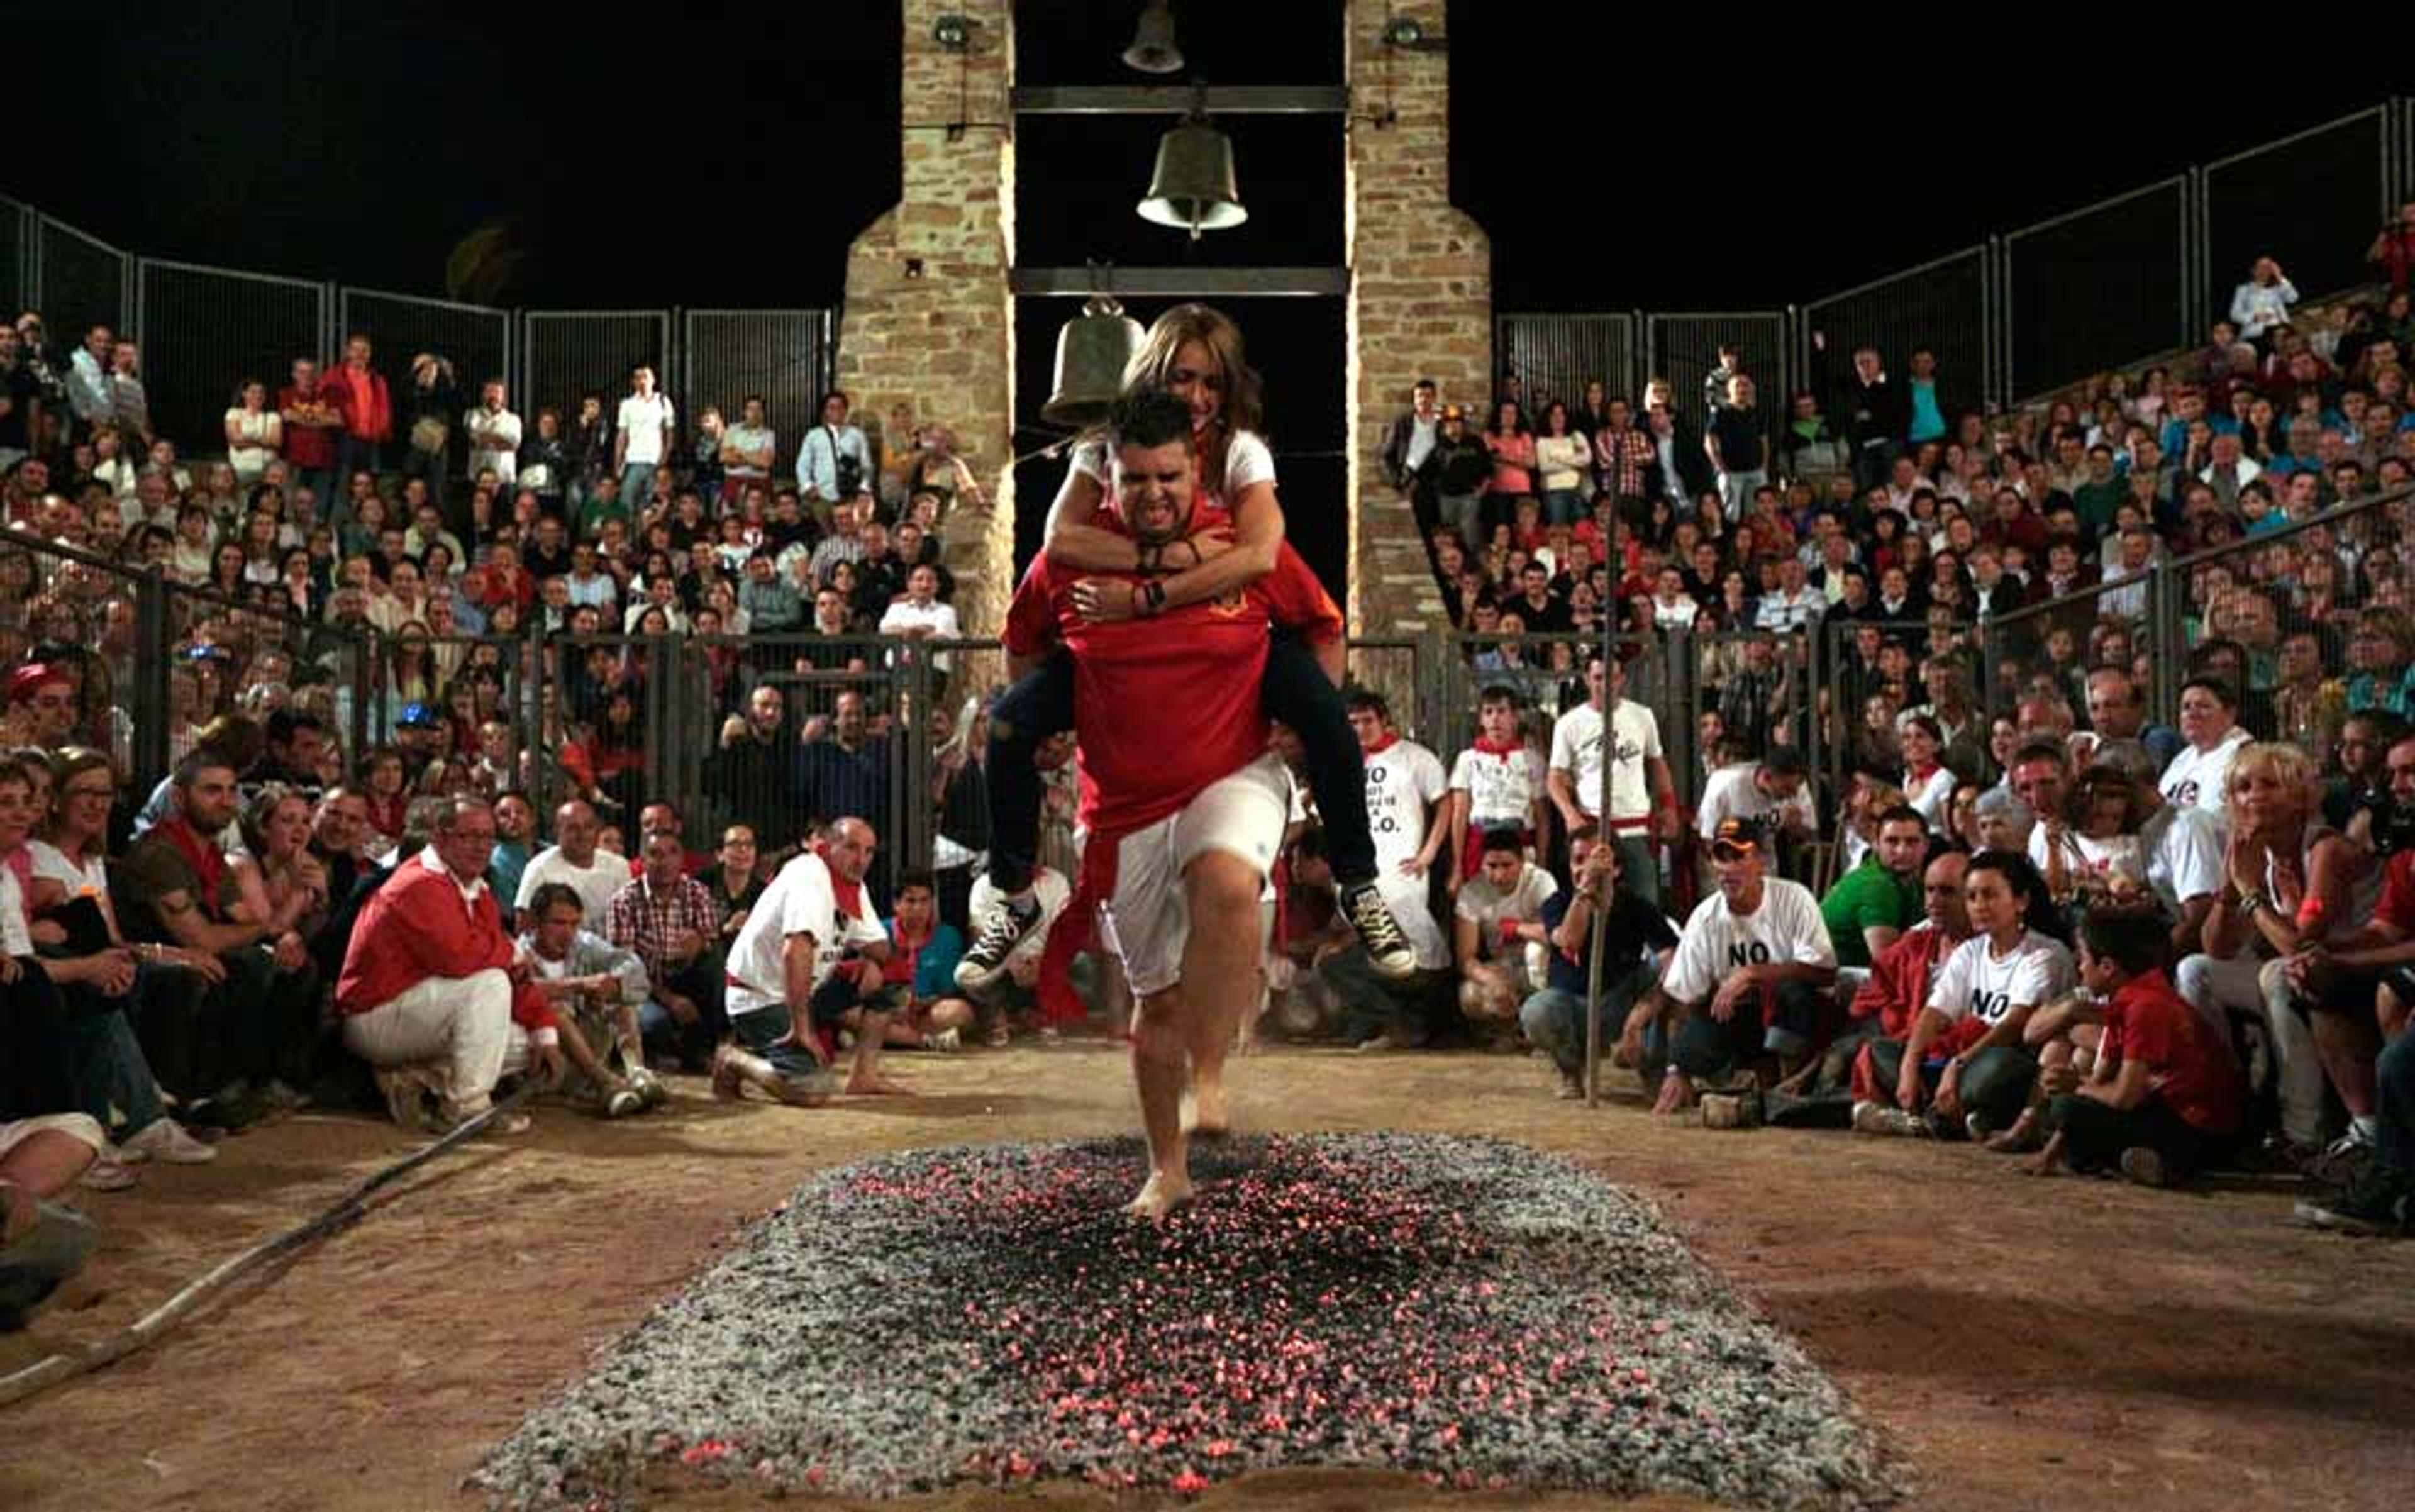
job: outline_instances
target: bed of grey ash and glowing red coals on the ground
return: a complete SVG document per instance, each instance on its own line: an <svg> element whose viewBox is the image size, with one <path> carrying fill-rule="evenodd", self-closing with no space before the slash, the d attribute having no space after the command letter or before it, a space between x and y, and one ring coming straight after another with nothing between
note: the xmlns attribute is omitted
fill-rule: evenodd
<svg viewBox="0 0 2415 1512"><path fill-rule="evenodd" d="M1236 1138L1121 1212L1137 1140L828 1171L500 1444L502 1507L638 1505L671 1461L795 1493L1191 1493L1273 1466L1872 1507L1843 1394L1654 1210L1439 1135Z"/></svg>

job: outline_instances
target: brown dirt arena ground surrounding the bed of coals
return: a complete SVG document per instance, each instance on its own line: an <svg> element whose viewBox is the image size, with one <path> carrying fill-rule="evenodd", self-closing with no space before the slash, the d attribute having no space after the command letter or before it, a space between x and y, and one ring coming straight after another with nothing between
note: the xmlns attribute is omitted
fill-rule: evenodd
<svg viewBox="0 0 2415 1512"><path fill-rule="evenodd" d="M430 1167L150 1353L0 1411L0 1507L471 1510L461 1478L481 1454L809 1171L1133 1126L1106 1043L901 1068L923 1097L739 1109L681 1080L681 1101L638 1123L543 1109L534 1130ZM2277 1184L2038 1184L1971 1147L1710 1133L1633 1094L1591 1111L1553 1101L1543 1065L1483 1053L1263 1053L1236 1063L1236 1121L1502 1135L1649 1193L1843 1382L1905 1461L1915 1507L2403 1507L2415 1483L2415 1251L2292 1229ZM0 1338L0 1372L140 1316L406 1150L367 1118L302 1116L213 1167L87 1196L106 1249L31 1333ZM1485 1500L1299 1471L1198 1505ZM664 1478L659 1505L763 1498ZM925 1505L1118 1502L1065 1488Z"/></svg>

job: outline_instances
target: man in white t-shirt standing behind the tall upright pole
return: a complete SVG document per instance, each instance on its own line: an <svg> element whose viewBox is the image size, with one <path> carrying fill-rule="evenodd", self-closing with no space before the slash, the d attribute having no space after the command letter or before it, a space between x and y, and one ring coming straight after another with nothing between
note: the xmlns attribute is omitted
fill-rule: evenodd
<svg viewBox="0 0 2415 1512"><path fill-rule="evenodd" d="M1659 862L1652 833L1676 841L1676 785L1659 744L1659 720L1633 703L1625 655L1604 667L1601 650L1584 655L1584 703L1550 727L1550 773L1543 778L1567 833L1601 824L1618 848L1618 872L1628 891L1659 903ZM1604 797L1604 785L1608 795ZM1604 809L1608 802L1608 809Z"/></svg>

